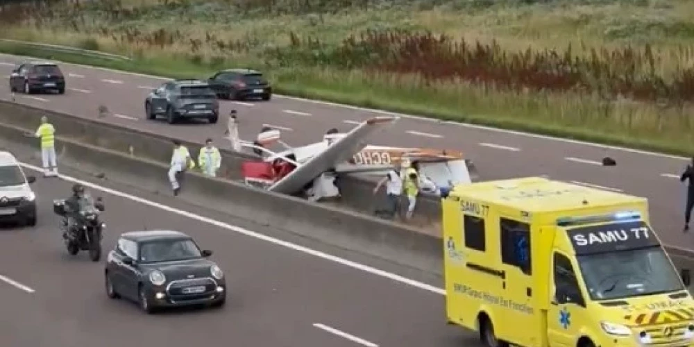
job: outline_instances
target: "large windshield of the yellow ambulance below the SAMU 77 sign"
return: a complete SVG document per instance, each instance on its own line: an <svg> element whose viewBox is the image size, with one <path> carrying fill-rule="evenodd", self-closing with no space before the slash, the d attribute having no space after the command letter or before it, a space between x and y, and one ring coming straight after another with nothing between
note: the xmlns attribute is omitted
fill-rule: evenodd
<svg viewBox="0 0 694 347"><path fill-rule="evenodd" d="M593 300L684 290L661 247L580 255L578 264Z"/></svg>

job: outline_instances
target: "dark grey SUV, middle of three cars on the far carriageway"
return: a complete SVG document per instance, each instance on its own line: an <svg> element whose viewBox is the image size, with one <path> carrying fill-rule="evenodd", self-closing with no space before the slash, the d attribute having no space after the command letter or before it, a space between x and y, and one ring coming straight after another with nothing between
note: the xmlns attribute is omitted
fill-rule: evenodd
<svg viewBox="0 0 694 347"><path fill-rule="evenodd" d="M147 119L166 115L169 124L178 119L205 118L210 123L219 119L219 101L210 85L198 80L176 80L162 84L144 101Z"/></svg>

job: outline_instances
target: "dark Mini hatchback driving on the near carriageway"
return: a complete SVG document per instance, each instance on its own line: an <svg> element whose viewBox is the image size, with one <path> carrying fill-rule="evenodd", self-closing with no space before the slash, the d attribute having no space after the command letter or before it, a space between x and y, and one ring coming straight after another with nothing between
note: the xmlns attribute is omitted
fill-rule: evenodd
<svg viewBox="0 0 694 347"><path fill-rule="evenodd" d="M126 232L108 254L106 294L136 301L147 313L226 302L226 280L192 237L172 230Z"/></svg>

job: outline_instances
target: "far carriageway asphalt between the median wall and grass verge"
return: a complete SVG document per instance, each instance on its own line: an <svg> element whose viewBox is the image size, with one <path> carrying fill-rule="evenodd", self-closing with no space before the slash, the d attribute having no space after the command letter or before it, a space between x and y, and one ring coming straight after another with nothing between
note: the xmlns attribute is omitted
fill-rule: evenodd
<svg viewBox="0 0 694 347"><path fill-rule="evenodd" d="M0 55L0 74L8 76L22 60ZM163 78L67 63L61 66L67 75L66 94L18 94L17 101L92 119L99 105L105 105L114 114L105 119L110 123L199 143L212 137L228 148L222 139L226 119L215 125L176 126L145 119L144 98ZM0 98L10 98L8 83L0 85ZM285 142L295 145L319 141L329 128L349 130L359 121L383 113L287 96L267 102L221 101L223 115L232 108L239 112L242 138L253 139L263 125L269 125L282 130ZM682 233L684 189L677 179L686 164L682 158L410 116L373 139L373 144L458 149L475 162L484 180L545 175L646 196L663 241L683 248L694 244L693 236ZM600 160L605 155L616 159L617 166L602 167Z"/></svg>

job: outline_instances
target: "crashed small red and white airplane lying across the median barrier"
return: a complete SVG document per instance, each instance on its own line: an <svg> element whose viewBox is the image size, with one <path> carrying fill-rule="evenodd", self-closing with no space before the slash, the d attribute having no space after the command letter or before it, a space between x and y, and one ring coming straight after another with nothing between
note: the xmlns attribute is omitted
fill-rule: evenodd
<svg viewBox="0 0 694 347"><path fill-rule="evenodd" d="M323 141L300 147L282 142L280 130L264 127L255 142L241 142L242 147L262 158L242 163L244 181L272 192L304 195L316 201L340 195L335 178L341 175L380 178L395 165L411 162L418 167L425 194L440 194L441 188L472 182L474 166L459 151L366 144L371 135L382 132L398 119L374 117L348 133L330 129ZM278 144L284 149L269 149Z"/></svg>

